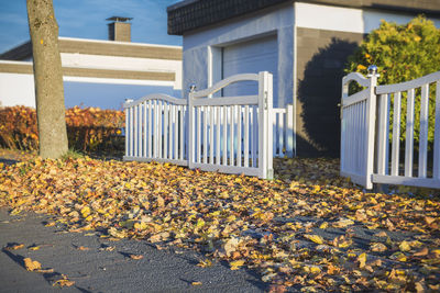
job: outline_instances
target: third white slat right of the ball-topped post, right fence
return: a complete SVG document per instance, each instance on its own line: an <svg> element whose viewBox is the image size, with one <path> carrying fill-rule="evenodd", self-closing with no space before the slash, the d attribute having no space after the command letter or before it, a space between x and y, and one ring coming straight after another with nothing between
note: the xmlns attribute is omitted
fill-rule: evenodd
<svg viewBox="0 0 440 293"><path fill-rule="evenodd" d="M408 91L406 102L405 177L413 177L414 156L414 103L415 89Z"/></svg>

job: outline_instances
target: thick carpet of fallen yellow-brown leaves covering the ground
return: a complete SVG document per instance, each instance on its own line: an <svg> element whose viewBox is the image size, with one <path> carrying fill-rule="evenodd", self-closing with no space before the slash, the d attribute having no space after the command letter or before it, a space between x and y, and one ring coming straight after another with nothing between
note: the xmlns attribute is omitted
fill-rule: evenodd
<svg viewBox="0 0 440 293"><path fill-rule="evenodd" d="M34 159L0 170L0 205L11 214L56 215L70 232L197 249L208 257L200 267L227 260L280 288L440 290L436 199L364 193L339 178L331 160L278 167L285 180L168 164ZM307 178L295 174L301 168Z"/></svg>

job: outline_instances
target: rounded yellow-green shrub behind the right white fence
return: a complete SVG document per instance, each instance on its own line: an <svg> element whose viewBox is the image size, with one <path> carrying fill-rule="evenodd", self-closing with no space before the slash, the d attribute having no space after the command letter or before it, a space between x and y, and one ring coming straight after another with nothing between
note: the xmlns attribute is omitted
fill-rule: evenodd
<svg viewBox="0 0 440 293"><path fill-rule="evenodd" d="M366 75L366 69L370 65L378 67L378 74L381 75L378 84L409 81L439 71L440 30L435 26L432 21L424 16L418 16L404 25L383 21L381 26L372 31L356 52L349 57L345 72L358 71ZM430 144L433 142L435 91L436 87L431 84L428 134ZM407 93L403 92L400 139L405 139L406 136L406 98ZM416 90L415 110L415 140L418 142L420 89ZM393 115L393 106L391 112Z"/></svg>

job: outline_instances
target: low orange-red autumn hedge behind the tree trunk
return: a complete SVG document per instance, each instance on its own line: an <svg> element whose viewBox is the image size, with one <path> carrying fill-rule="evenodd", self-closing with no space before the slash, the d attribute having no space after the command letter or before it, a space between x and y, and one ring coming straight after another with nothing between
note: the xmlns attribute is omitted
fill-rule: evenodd
<svg viewBox="0 0 440 293"><path fill-rule="evenodd" d="M66 110L66 125L70 148L84 151L114 148L121 145L118 135L124 126L124 113L75 106ZM0 146L22 150L38 149L35 109L0 109Z"/></svg>

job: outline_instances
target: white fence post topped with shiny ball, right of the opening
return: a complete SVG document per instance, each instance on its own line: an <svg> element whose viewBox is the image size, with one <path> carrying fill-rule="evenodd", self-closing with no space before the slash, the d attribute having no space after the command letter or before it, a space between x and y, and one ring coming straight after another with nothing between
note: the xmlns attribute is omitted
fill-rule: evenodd
<svg viewBox="0 0 440 293"><path fill-rule="evenodd" d="M366 137L366 164L365 164L365 188L373 189L373 168L374 168L374 135L375 135L375 127L376 127L376 86L377 86L377 66L371 65L369 66L369 75L370 79L370 97L367 100L367 115L366 115L366 123L367 123L367 137Z"/></svg>

